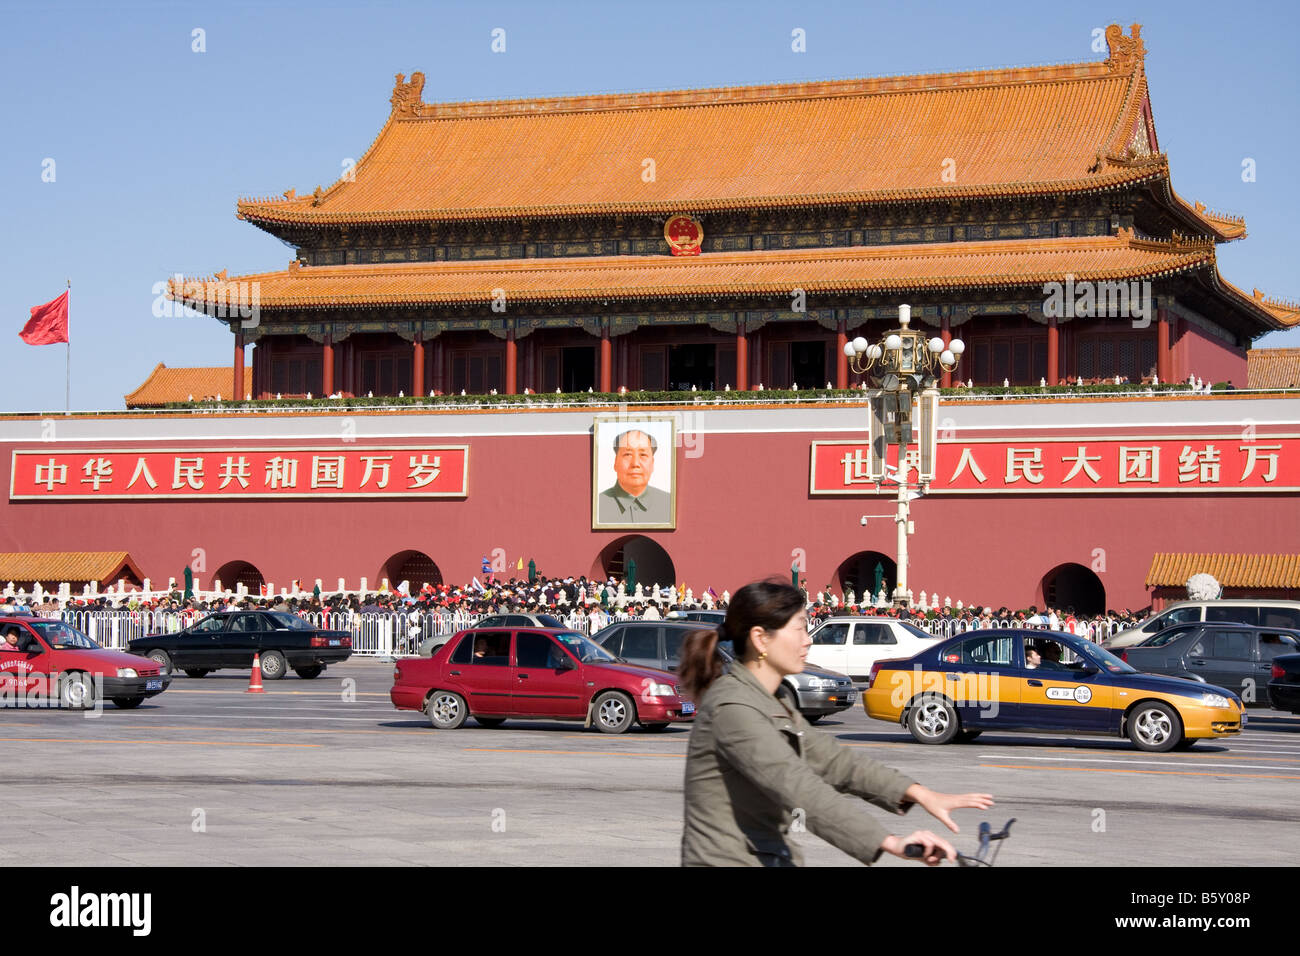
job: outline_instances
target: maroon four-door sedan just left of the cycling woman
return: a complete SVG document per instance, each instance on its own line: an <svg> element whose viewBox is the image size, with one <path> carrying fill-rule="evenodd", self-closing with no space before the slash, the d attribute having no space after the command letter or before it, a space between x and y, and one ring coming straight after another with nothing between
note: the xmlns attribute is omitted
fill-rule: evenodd
<svg viewBox="0 0 1300 956"><path fill-rule="evenodd" d="M696 714L675 675L623 663L559 628L460 631L430 658L398 661L390 697L398 710L425 711L439 730L467 717L485 727L519 717L623 734L633 723L656 731Z"/></svg>

